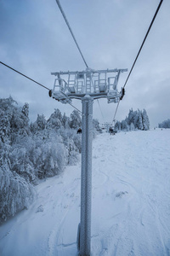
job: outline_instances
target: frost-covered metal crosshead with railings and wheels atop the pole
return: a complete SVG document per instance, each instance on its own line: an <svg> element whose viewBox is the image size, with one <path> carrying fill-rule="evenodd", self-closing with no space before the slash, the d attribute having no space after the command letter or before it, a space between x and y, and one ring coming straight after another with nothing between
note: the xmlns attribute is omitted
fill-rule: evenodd
<svg viewBox="0 0 170 256"><path fill-rule="evenodd" d="M106 97L108 103L116 103L122 97L122 90L118 92L117 84L123 72L127 72L127 69L88 68L81 72L51 73L57 78L54 79L54 90L49 90L49 96L62 103L71 103L71 99L82 100L86 95L94 99Z"/></svg>

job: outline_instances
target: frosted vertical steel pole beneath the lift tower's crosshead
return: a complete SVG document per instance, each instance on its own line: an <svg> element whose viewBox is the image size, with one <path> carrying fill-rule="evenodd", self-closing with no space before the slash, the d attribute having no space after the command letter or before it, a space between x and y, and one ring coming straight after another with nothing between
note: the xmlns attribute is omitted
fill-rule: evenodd
<svg viewBox="0 0 170 256"><path fill-rule="evenodd" d="M91 246L91 191L92 191L92 138L93 98L82 98L82 177L80 256L90 256Z"/></svg>

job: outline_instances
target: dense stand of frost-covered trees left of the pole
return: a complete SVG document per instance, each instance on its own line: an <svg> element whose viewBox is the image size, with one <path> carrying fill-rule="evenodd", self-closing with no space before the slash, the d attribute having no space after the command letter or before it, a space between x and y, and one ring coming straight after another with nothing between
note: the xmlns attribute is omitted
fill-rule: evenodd
<svg viewBox="0 0 170 256"><path fill-rule="evenodd" d="M38 179L77 162L81 137L70 125L81 125L78 113L70 120L55 109L48 121L38 114L29 125L27 103L20 108L12 97L0 99L0 223L29 206Z"/></svg>

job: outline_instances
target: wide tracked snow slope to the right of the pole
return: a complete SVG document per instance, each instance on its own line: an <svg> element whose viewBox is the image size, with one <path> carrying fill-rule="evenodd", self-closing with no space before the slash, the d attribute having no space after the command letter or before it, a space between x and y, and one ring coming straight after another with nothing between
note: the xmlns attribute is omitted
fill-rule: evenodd
<svg viewBox="0 0 170 256"><path fill-rule="evenodd" d="M98 236L93 239L93 250L99 255L170 255L170 182L165 180L165 176L169 178L170 160L164 154L168 142L164 139L156 145L153 132L146 131L142 139L135 131L116 137L103 134L100 142L94 143L93 179L99 181L94 182L94 201L99 206L104 199L107 204L107 197L113 201L111 205L108 200L109 207L103 206L100 228L94 224ZM102 224L107 218L110 226Z"/></svg>

